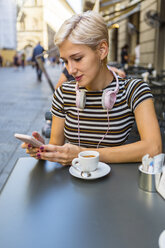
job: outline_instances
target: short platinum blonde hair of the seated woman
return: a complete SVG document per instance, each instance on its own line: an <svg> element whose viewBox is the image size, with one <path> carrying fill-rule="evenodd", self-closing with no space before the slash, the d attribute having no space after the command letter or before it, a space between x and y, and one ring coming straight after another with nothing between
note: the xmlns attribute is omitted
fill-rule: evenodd
<svg viewBox="0 0 165 248"><path fill-rule="evenodd" d="M76 14L66 20L55 35L55 45L59 47L66 39L73 44L87 45L92 49L103 40L109 44L104 19L94 11Z"/></svg>

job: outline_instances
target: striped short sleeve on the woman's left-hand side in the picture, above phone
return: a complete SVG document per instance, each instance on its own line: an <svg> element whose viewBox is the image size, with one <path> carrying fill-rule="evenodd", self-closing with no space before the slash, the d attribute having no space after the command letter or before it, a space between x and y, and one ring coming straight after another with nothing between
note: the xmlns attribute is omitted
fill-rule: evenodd
<svg viewBox="0 0 165 248"><path fill-rule="evenodd" d="M62 87L57 88L53 94L51 113L57 117L65 118Z"/></svg>

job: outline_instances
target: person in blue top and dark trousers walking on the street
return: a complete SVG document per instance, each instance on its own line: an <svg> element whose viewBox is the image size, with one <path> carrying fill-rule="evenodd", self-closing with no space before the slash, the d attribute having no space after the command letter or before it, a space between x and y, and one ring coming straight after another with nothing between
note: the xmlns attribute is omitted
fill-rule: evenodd
<svg viewBox="0 0 165 248"><path fill-rule="evenodd" d="M32 55L32 62L35 63L35 68L36 68L36 73L37 73L37 80L39 82L42 81L42 70L39 67L39 64L36 60L36 56L40 55L44 52L44 48L41 46L40 42L38 42L38 44L34 47L33 50L33 55ZM44 57L41 56L42 62L44 62Z"/></svg>

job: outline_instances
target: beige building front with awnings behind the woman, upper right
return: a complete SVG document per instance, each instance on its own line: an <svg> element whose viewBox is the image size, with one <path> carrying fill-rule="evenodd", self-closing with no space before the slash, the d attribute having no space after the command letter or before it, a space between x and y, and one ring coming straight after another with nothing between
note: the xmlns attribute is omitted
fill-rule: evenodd
<svg viewBox="0 0 165 248"><path fill-rule="evenodd" d="M96 2L84 0L84 11ZM164 9L164 0L100 0L99 12L109 28L109 60L121 62L121 49L127 44L130 65L165 70Z"/></svg>

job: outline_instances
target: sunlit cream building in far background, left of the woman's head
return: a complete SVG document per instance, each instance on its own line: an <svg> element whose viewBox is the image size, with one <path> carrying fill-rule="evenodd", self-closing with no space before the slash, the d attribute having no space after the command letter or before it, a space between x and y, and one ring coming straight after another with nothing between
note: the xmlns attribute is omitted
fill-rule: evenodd
<svg viewBox="0 0 165 248"><path fill-rule="evenodd" d="M65 0L24 1L17 18L17 50L25 51L27 59L30 59L38 41L46 50L51 49L55 32L73 14Z"/></svg>

